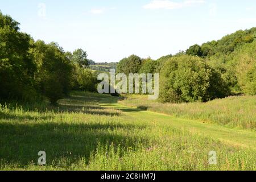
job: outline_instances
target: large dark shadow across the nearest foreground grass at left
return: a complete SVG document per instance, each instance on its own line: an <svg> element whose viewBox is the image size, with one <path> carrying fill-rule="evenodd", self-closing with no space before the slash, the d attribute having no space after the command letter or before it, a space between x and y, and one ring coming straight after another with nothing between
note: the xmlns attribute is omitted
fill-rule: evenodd
<svg viewBox="0 0 256 182"><path fill-rule="evenodd" d="M113 143L116 150L120 145L121 151L127 151L130 147L135 149L141 145L147 146L145 138L127 137L117 132L143 128L130 124L0 123L1 165L17 164L24 168L32 161L36 164L39 151L46 152L48 165L55 166L63 159L63 167L76 164L82 158L88 162L98 143L101 146Z"/></svg>

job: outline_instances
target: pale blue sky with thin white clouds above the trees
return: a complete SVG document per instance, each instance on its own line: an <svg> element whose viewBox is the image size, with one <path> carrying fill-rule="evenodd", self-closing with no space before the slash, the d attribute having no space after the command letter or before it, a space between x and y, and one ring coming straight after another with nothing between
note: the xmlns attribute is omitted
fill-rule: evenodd
<svg viewBox="0 0 256 182"><path fill-rule="evenodd" d="M0 0L0 10L35 40L98 63L158 59L256 27L255 0Z"/></svg>

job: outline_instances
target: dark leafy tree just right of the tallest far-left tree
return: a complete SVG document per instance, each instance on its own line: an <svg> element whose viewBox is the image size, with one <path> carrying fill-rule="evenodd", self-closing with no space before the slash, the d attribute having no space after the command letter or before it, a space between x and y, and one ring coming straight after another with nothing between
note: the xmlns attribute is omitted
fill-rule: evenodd
<svg viewBox="0 0 256 182"><path fill-rule="evenodd" d="M56 43L45 44L38 40L30 52L38 67L36 87L52 104L56 104L57 100L69 92L72 65Z"/></svg>

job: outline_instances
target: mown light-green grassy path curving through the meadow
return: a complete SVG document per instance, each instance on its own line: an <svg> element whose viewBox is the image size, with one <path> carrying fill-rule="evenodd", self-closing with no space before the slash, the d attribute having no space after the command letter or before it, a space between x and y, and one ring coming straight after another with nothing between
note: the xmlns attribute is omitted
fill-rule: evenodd
<svg viewBox="0 0 256 182"><path fill-rule="evenodd" d="M253 131L229 129L214 124L175 118L170 115L154 113L152 111L143 111L137 108L121 105L116 98L102 98L100 105L102 107L122 110L126 117L131 119L131 121L137 119L147 122L160 122L163 125L171 125L175 128L188 130L191 133L209 136L232 146L246 147L256 150L256 133Z"/></svg>

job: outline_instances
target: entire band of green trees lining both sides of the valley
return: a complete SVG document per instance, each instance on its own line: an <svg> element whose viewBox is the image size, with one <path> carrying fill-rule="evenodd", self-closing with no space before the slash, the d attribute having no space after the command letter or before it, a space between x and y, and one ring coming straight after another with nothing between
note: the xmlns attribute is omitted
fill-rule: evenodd
<svg viewBox="0 0 256 182"><path fill-rule="evenodd" d="M98 65L87 57L82 49L65 52L57 43L35 41L19 31L18 22L0 12L0 101L48 98L56 104L70 90L96 92L98 73L110 68L126 75L160 73L162 102L205 102L232 93L256 94L256 28L158 60L131 55L118 64Z"/></svg>

